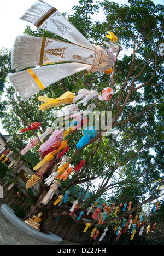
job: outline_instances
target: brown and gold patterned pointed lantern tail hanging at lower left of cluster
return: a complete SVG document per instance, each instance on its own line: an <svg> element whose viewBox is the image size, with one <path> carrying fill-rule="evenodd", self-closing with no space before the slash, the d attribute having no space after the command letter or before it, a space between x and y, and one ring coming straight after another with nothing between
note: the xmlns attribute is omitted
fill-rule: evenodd
<svg viewBox="0 0 164 256"><path fill-rule="evenodd" d="M43 166L41 166L35 174L32 175L32 177L27 181L26 183L26 189L29 189L29 187L32 187L34 184L37 183L37 181L44 175L44 173L50 168L51 164L54 162L54 160L50 160L48 163L45 163Z"/></svg>

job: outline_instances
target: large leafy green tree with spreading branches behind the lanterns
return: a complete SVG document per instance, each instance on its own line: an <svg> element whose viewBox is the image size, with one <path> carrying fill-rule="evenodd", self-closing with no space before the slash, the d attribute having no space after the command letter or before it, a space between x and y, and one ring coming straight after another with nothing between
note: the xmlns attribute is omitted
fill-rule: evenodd
<svg viewBox="0 0 164 256"><path fill-rule="evenodd" d="M103 136L102 132L107 129L97 130L95 138L80 150L77 150L75 144L82 136L81 130L67 137L69 151L66 155L70 157L69 162L76 166L81 158L86 161L80 172L72 173L65 181L61 181L61 194L72 187L77 190L79 186L85 189L84 194L78 198L80 207L72 215L75 221L81 208L86 209L99 197L107 204L113 201L133 202L130 211L114 217L109 215L104 221L109 223L127 217L143 204L154 201L159 196L158 187L161 183L155 181L162 178L163 173L163 58L159 54L159 48L163 37L164 8L162 5L156 6L150 0L129 0L128 3L119 6L106 0L98 4L93 4L92 0L80 0L79 5L73 7L74 14L68 15L68 20L91 43L109 43L105 36L108 30L114 31L118 36L119 53L111 75L98 72L87 74L85 71L76 73L40 91L27 101L22 101L8 84L8 100L1 103L5 110L8 110L7 115L1 112L3 128L10 134L19 133L20 129L32 122L42 122L37 131L21 135L19 148L22 149L22 144L25 146L33 136L39 138L46 127L52 126L55 120L52 109L39 110L39 95L57 98L66 90L77 93L82 88L96 89L101 94L104 87L110 86L114 89L114 95L107 103L93 101L97 111L106 111L106 121L107 111L112 111L112 133ZM92 16L96 12L103 12L106 19L93 21ZM42 29L32 31L29 26L26 27L25 33L58 38ZM83 109L83 106L80 105L80 109ZM40 161L38 149L41 144L39 141L38 145L24 156L20 156L18 150L19 160L28 160L34 167ZM53 166L39 180L38 194L26 218L31 217L40 208L46 209L45 219L49 215L55 218L69 214L68 206L54 207L53 203L58 195L52 198L48 206L40 203L43 195L49 190L49 187L44 185L44 180L57 170L59 162L58 155L55 155ZM97 179L98 186L94 183ZM19 180L17 186L20 187ZM21 190L28 197L28 190ZM83 200L86 192L92 192L92 195ZM113 193L113 197L109 196L109 192ZM84 220L79 222L85 224ZM97 220L91 222L97 223Z"/></svg>

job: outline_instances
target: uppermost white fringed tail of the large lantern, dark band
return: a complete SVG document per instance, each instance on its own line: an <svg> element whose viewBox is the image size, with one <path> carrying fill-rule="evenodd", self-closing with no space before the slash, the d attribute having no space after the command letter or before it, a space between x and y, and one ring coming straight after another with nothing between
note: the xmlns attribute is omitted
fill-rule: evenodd
<svg viewBox="0 0 164 256"><path fill-rule="evenodd" d="M40 29L48 30L74 44L94 49L93 45L55 7L39 0L20 18Z"/></svg>

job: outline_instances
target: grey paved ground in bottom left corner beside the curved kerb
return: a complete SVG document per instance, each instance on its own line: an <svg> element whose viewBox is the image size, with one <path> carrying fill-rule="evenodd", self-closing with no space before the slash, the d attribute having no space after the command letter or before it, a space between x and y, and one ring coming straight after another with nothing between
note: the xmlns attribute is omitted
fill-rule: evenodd
<svg viewBox="0 0 164 256"><path fill-rule="evenodd" d="M13 225L0 210L0 245L64 245L75 244L63 240L61 244L50 244L31 237Z"/></svg>

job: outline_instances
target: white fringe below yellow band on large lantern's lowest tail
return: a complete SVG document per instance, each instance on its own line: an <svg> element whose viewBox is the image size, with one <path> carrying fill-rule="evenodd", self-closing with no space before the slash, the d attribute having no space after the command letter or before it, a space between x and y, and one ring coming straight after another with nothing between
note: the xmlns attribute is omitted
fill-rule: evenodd
<svg viewBox="0 0 164 256"><path fill-rule="evenodd" d="M9 74L9 80L13 84L16 92L19 93L22 100L27 100L35 93L39 92L40 87L34 81L28 70L21 71L19 73Z"/></svg>

